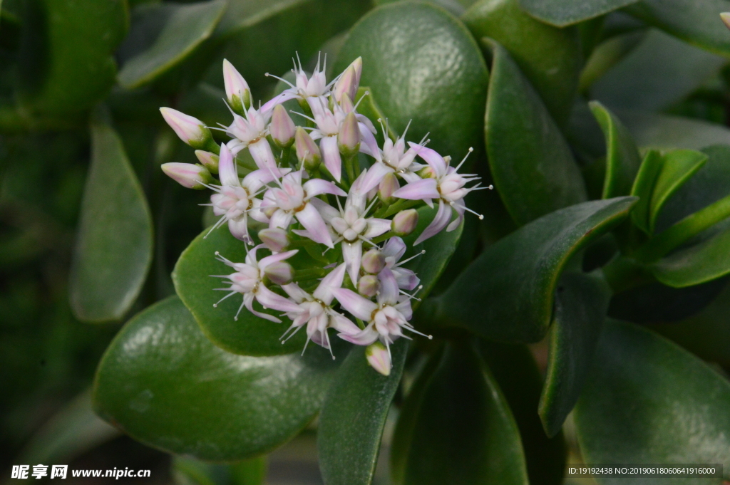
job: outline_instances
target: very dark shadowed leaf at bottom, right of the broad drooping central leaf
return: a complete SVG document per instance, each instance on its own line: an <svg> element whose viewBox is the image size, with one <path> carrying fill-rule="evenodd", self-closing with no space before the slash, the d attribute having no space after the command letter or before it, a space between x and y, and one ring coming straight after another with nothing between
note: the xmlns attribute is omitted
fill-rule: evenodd
<svg viewBox="0 0 730 485"><path fill-rule="evenodd" d="M520 429L531 484L561 485L567 449L562 433L548 438L537 414L542 376L524 344L480 340L479 351Z"/></svg>

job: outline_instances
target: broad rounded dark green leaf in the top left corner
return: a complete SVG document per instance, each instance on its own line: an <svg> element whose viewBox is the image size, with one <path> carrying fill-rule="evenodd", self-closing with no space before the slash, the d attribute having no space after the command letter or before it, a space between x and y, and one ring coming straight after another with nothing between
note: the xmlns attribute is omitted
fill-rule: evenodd
<svg viewBox="0 0 730 485"><path fill-rule="evenodd" d="M112 53L129 26L126 1L33 0L38 18L26 18L34 37L20 69L21 115L61 117L91 108L114 84Z"/></svg>

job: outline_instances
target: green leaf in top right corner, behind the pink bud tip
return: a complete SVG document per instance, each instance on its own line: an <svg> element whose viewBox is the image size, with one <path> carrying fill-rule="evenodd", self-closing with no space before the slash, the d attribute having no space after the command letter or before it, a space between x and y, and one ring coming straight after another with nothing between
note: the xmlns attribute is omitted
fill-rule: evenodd
<svg viewBox="0 0 730 485"><path fill-rule="evenodd" d="M642 0L625 12L690 44L727 57L728 29L720 14L727 12L728 7L726 0Z"/></svg>

